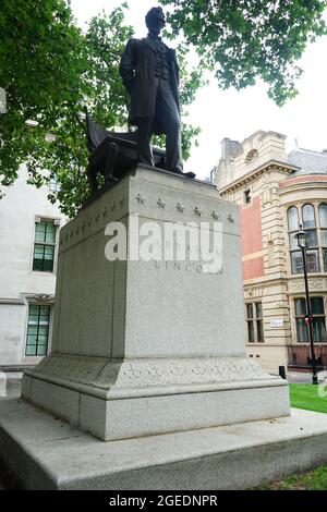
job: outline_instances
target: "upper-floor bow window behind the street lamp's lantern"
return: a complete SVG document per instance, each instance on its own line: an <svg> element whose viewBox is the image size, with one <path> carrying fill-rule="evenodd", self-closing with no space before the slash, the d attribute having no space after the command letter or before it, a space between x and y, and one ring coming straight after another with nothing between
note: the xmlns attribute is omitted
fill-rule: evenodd
<svg viewBox="0 0 327 512"><path fill-rule="evenodd" d="M287 214L292 273L303 273L302 252L299 251L294 236L300 225L308 234L307 272L327 271L327 205L323 203L291 206Z"/></svg>

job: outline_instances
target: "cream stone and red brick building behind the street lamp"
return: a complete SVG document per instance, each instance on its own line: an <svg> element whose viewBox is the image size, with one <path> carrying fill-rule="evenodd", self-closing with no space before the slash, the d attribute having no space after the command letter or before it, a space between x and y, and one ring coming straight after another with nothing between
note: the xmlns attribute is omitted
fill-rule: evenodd
<svg viewBox="0 0 327 512"><path fill-rule="evenodd" d="M286 136L258 131L225 138L215 183L238 203L247 353L263 367L310 367L304 279L294 233L310 235L308 285L316 357L327 367L327 153L295 148Z"/></svg>

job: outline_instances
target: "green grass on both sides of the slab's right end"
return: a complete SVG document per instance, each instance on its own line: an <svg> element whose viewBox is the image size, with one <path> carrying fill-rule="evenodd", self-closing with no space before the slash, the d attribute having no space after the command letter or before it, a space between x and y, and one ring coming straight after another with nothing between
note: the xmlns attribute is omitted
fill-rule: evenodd
<svg viewBox="0 0 327 512"><path fill-rule="evenodd" d="M318 387L290 385L291 406L327 414L327 397L318 397ZM292 475L280 481L265 484L259 490L327 490L327 466L303 475Z"/></svg>

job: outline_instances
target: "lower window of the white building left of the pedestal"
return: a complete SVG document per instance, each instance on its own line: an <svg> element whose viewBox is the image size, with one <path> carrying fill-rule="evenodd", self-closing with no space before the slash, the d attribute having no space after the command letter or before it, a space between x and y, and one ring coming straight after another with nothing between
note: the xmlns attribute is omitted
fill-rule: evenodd
<svg viewBox="0 0 327 512"><path fill-rule="evenodd" d="M26 355L46 355L48 351L50 306L29 304Z"/></svg>

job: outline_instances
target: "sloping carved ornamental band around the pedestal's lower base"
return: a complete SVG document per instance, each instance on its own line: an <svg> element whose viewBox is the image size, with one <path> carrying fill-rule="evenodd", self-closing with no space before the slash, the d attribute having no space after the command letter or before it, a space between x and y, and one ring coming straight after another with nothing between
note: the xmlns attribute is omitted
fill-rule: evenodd
<svg viewBox="0 0 327 512"><path fill-rule="evenodd" d="M108 359L78 356L50 356L38 366L38 373L109 390L152 386L187 386L264 379L267 375L250 359L234 363L223 359L185 359L159 363L131 361L111 363Z"/></svg>

